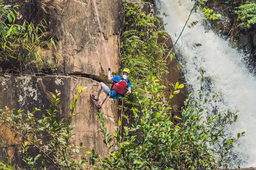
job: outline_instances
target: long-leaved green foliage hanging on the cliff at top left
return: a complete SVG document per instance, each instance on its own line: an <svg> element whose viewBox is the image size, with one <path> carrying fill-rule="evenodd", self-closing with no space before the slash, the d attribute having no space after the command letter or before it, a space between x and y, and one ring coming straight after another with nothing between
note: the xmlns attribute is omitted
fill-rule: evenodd
<svg viewBox="0 0 256 170"><path fill-rule="evenodd" d="M56 41L53 38L45 40L45 21L37 25L27 21L16 24L16 9L18 5L7 9L0 0L0 62L10 62L13 70L20 70L31 62L35 62L39 69L44 68L47 59L41 54L41 49L49 43L51 50L56 50Z"/></svg>

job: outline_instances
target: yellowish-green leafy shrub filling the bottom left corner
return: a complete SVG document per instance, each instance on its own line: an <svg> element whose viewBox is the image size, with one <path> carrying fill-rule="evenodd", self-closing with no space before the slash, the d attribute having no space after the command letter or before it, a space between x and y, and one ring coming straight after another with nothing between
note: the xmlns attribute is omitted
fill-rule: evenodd
<svg viewBox="0 0 256 170"><path fill-rule="evenodd" d="M46 169L46 164L49 162L61 170L83 168L86 155L81 160L74 158L80 150L84 150L83 143L80 146L70 145L70 139L74 138L72 118L78 114L74 112L74 108L83 89L85 88L79 87L78 95L74 95L74 101L70 104L70 115L65 119L58 118L60 113L56 110L60 102L59 91L56 91L56 95L52 95L52 105L46 110L46 114L40 114L42 117L39 119L36 116L40 113L38 108L33 108L31 113L24 113L23 110L0 110L0 124L24 139L22 160L31 170L36 170L38 166ZM32 150L36 150L38 155L31 156Z"/></svg>

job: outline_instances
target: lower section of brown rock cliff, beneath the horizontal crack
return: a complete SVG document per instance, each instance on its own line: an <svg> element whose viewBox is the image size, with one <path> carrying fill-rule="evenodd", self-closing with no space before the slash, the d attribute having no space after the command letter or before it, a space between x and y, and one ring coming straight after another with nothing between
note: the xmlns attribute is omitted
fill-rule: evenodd
<svg viewBox="0 0 256 170"><path fill-rule="evenodd" d="M0 108L8 106L9 108L21 108L25 113L31 112L33 107L41 108L42 112L38 112L37 118L45 113L45 109L49 108L50 102L43 91L41 82L45 85L47 91L54 92L55 89L61 91L61 103L58 106L60 111L57 118L65 118L70 115L70 102L73 100L74 94L77 94L79 86L87 86L83 91L83 95L79 98L76 105L76 112L79 115L73 120L76 126L74 129L75 138L72 141L74 145L79 146L83 142L84 146L91 150L94 148L97 153L102 156L104 154L105 144L103 143L103 134L99 132L101 121L97 117L99 109L96 102L90 99L90 93L96 93L98 82L84 77L72 76L10 76L0 77ZM104 114L108 129L110 132L115 131L117 106L112 100L108 100L103 106L101 112ZM23 164L19 159L21 154L20 137L14 138L10 130L0 126L0 138L7 141L7 150L1 150L0 155L11 157L14 161ZM25 142L25 141L23 141ZM21 166L22 167L22 166Z"/></svg>

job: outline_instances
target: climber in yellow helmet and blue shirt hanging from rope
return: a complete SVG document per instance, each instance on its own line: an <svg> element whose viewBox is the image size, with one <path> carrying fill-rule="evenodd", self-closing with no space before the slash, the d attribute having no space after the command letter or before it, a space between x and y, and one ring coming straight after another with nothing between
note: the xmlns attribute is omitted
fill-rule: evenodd
<svg viewBox="0 0 256 170"><path fill-rule="evenodd" d="M117 75L115 77L111 77L110 71L111 71L111 68L108 68L108 80L113 81L112 87L109 88L106 84L101 82L98 87L97 95L94 95L91 93L91 98L94 99L96 102L98 102L99 108L101 108L102 105L106 102L106 99L108 98L108 96L112 99L118 99L119 97L125 97L127 95L130 95L131 93L131 83L128 80L130 70L128 68L124 68L122 72L122 76ZM128 91L124 93L126 91L126 88L128 88ZM99 95L101 94L102 89L106 93L106 95L104 96L101 103L99 101Z"/></svg>

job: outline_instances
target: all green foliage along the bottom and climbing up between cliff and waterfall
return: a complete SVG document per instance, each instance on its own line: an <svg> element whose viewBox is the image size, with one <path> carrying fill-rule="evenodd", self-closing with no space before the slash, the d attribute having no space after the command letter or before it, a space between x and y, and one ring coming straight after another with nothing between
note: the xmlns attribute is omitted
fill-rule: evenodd
<svg viewBox="0 0 256 170"><path fill-rule="evenodd" d="M155 24L159 21L146 15L140 4L125 2L124 6L126 22L121 42L121 65L131 70L129 78L134 87L134 100L126 99L126 103L132 106L128 111L133 114L135 123L122 127L121 130L119 120L115 133L110 134L103 114L99 113L102 121L100 131L104 134L103 141L110 155L101 159L92 150L86 151L81 160L75 159L74 155L83 150L83 143L74 146L69 142L74 138L72 118L78 114L74 112L74 108L83 88L79 88L79 94L70 103L70 115L67 119L58 119L59 111L56 106L60 102L60 92L56 91L56 95L52 95L52 105L40 119L35 117L40 112L38 108L34 108L31 113L0 110L0 123L23 139L23 160L31 170L38 166L46 169L48 162L61 170L84 169L86 163L97 170L195 170L228 167L226 155L245 133L238 133L237 138L232 139L227 139L224 135L225 127L236 121L236 113L228 110L203 116L208 112L205 105L214 101L219 94L210 99L203 98L202 69L198 98L191 101L189 95L184 101L181 117L173 117L172 108L164 97L165 86L155 78L161 78L166 73L163 54L166 52L164 42L168 36L157 29ZM182 88L183 84L176 83L171 90L170 99L180 93ZM174 125L174 119L181 120L180 124ZM137 120L140 122L137 123ZM46 141L41 139L42 135L47 138ZM32 149L39 150L38 155L31 156Z"/></svg>

